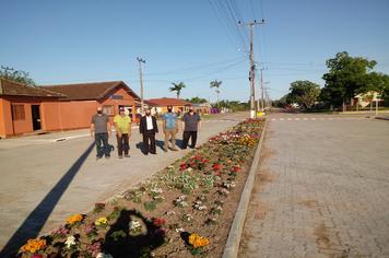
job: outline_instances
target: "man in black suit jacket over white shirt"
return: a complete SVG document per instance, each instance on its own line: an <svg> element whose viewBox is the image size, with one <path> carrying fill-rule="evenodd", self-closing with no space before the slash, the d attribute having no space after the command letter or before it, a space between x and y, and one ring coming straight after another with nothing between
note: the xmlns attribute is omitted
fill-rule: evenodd
<svg viewBox="0 0 389 258"><path fill-rule="evenodd" d="M155 133L158 132L158 126L156 125L156 118L151 115L149 108L145 109L145 116L141 118L139 132L143 134L143 153L145 155L148 155L149 152L156 154Z"/></svg>

